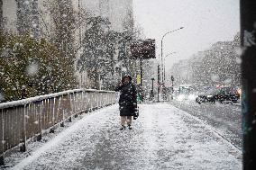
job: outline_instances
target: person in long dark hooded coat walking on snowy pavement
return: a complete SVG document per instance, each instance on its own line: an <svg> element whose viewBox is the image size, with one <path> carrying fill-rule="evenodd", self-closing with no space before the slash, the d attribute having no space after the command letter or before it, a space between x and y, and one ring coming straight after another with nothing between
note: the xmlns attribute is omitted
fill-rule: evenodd
<svg viewBox="0 0 256 170"><path fill-rule="evenodd" d="M122 125L120 130L125 130L125 123L127 123L128 129L132 130L132 116L137 109L137 92L132 83L132 76L123 76L122 82L114 90L120 91L119 110Z"/></svg>

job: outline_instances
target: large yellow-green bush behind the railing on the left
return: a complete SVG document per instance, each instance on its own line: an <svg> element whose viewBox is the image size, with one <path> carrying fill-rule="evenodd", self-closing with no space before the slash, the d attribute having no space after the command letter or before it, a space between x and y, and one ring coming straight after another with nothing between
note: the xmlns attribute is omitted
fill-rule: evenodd
<svg viewBox="0 0 256 170"><path fill-rule="evenodd" d="M73 62L44 39L0 34L0 94L14 101L76 86Z"/></svg>

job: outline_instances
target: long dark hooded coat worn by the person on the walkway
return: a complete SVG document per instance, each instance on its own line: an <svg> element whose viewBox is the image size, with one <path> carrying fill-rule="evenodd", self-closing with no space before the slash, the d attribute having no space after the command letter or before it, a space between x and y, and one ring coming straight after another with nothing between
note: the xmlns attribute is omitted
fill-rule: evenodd
<svg viewBox="0 0 256 170"><path fill-rule="evenodd" d="M115 91L120 91L119 110L120 116L133 116L137 108L137 92L136 87L131 82L117 85Z"/></svg>

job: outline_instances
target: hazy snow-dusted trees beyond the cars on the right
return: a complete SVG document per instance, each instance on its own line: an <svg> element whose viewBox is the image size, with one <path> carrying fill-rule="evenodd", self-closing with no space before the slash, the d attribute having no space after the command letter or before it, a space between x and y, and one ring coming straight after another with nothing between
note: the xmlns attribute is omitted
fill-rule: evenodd
<svg viewBox="0 0 256 170"><path fill-rule="evenodd" d="M198 52L193 58L180 61L170 72L176 77L177 84L240 85L240 56L237 53L239 47L240 40L237 34L233 41L216 42L210 49ZM187 80L182 77L186 70L190 70Z"/></svg>

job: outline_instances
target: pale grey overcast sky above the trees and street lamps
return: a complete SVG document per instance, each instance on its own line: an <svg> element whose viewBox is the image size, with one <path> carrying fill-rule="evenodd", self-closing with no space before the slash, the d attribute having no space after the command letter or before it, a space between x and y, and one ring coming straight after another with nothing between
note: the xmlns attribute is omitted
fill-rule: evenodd
<svg viewBox="0 0 256 170"><path fill-rule="evenodd" d="M240 30L239 0L133 0L133 6L146 38L157 40L157 55L163 34L184 27L163 40L163 56L177 52L166 58L167 68Z"/></svg>

